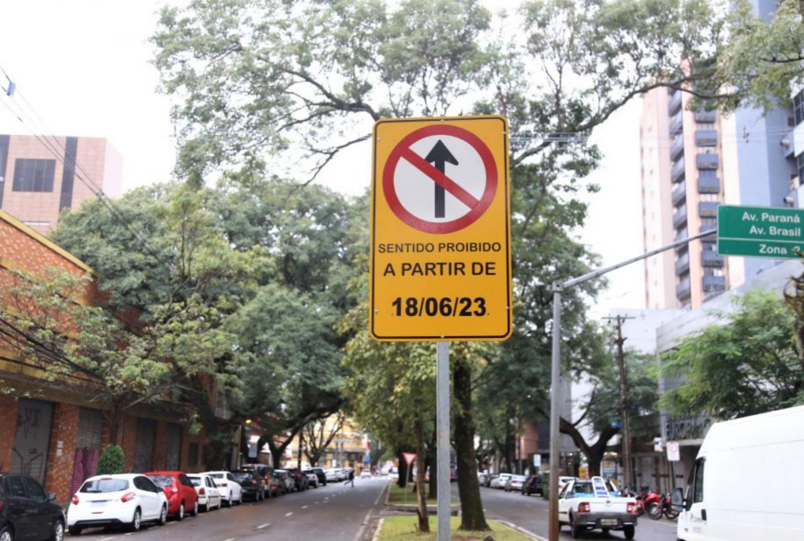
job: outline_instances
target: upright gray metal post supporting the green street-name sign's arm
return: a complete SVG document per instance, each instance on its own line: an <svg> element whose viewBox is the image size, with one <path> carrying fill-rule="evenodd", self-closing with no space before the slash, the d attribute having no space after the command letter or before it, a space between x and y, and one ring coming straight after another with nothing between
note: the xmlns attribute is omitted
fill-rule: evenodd
<svg viewBox="0 0 804 541"><path fill-rule="evenodd" d="M550 389L550 483L549 541L558 541L558 469L561 452L559 416L561 409L561 292L564 285L553 283L553 343Z"/></svg>

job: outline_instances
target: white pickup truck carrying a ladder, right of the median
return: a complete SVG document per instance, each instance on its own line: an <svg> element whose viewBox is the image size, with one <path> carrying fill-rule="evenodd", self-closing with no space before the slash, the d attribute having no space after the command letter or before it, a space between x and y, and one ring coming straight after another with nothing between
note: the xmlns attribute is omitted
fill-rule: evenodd
<svg viewBox="0 0 804 541"><path fill-rule="evenodd" d="M595 529L621 530L626 539L634 539L637 510L636 499L621 498L603 477L574 479L558 495L559 523L568 524L576 539L580 532Z"/></svg>

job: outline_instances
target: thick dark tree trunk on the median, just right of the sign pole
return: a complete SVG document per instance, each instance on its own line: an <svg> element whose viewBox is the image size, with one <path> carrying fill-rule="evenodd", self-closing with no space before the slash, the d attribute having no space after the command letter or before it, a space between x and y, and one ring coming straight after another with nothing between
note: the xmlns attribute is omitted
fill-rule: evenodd
<svg viewBox="0 0 804 541"><path fill-rule="evenodd" d="M461 494L461 530L486 531L486 515L480 499L478 462L474 456L474 419L472 418L472 371L465 363L455 363L454 392L455 455L457 457L457 488Z"/></svg>

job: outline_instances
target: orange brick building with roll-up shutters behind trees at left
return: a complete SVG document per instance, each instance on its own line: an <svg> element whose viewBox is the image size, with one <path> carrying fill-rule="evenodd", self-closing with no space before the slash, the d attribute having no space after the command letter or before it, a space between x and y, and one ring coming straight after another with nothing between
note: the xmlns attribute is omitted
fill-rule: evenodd
<svg viewBox="0 0 804 541"><path fill-rule="evenodd" d="M0 281L9 280L14 269L37 274L46 268L76 276L92 273L75 256L0 211ZM95 294L90 290L77 301L91 301ZM85 386L44 375L39 365L0 341L0 473L30 475L58 502L68 502L80 483L96 473L100 449L110 443L109 422L105 404L92 400ZM204 432L191 434L182 413L181 404L144 404L123 417L116 443L125 452L128 471L207 469Z"/></svg>

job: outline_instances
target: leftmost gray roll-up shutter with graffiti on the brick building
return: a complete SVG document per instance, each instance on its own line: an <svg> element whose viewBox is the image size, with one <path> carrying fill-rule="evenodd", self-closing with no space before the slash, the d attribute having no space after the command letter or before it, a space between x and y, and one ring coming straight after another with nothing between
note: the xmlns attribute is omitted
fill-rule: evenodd
<svg viewBox="0 0 804 541"><path fill-rule="evenodd" d="M53 403L19 399L10 473L33 477L44 486L52 421Z"/></svg>

